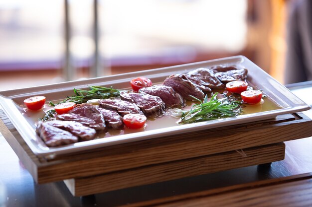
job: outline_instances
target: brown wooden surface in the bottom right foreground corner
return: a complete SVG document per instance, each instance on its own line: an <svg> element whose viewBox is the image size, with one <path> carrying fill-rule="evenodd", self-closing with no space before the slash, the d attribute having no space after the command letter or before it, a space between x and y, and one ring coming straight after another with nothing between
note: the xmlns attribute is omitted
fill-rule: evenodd
<svg viewBox="0 0 312 207"><path fill-rule="evenodd" d="M128 204L125 207L311 207L312 173Z"/></svg>

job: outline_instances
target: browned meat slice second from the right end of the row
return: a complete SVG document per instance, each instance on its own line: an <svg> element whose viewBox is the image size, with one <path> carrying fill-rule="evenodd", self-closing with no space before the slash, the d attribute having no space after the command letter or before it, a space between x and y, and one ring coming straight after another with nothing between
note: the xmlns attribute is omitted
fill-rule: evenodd
<svg viewBox="0 0 312 207"><path fill-rule="evenodd" d="M195 69L186 73L186 77L205 92L211 92L211 88L222 89L225 87L211 69Z"/></svg>

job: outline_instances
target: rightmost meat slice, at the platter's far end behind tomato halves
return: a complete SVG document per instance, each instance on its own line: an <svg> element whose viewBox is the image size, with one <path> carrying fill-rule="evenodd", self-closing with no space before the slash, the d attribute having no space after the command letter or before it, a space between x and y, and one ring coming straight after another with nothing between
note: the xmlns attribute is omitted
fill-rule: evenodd
<svg viewBox="0 0 312 207"><path fill-rule="evenodd" d="M236 67L216 67L213 68L215 76L223 83L234 80L246 80L247 69L238 69Z"/></svg>

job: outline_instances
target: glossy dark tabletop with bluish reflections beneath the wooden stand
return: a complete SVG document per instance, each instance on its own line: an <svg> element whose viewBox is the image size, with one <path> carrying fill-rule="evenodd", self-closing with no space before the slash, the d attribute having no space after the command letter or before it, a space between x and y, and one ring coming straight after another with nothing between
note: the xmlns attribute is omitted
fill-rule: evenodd
<svg viewBox="0 0 312 207"><path fill-rule="evenodd" d="M292 84L289 88L312 105L312 98L305 95L311 94L312 82ZM312 110L304 113L312 118ZM273 162L271 167L250 166L79 198L73 197L63 182L35 184L0 134L0 207L116 207L312 172L312 138L285 144L285 159Z"/></svg>

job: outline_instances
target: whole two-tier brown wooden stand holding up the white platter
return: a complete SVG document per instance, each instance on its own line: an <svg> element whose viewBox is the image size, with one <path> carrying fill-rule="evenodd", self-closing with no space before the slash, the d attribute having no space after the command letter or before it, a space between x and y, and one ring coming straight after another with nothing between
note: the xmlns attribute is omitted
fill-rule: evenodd
<svg viewBox="0 0 312 207"><path fill-rule="evenodd" d="M0 119L3 137L35 182L65 180L75 196L282 160L281 142L312 136L312 120L298 113L44 159L32 153L1 110Z"/></svg>

